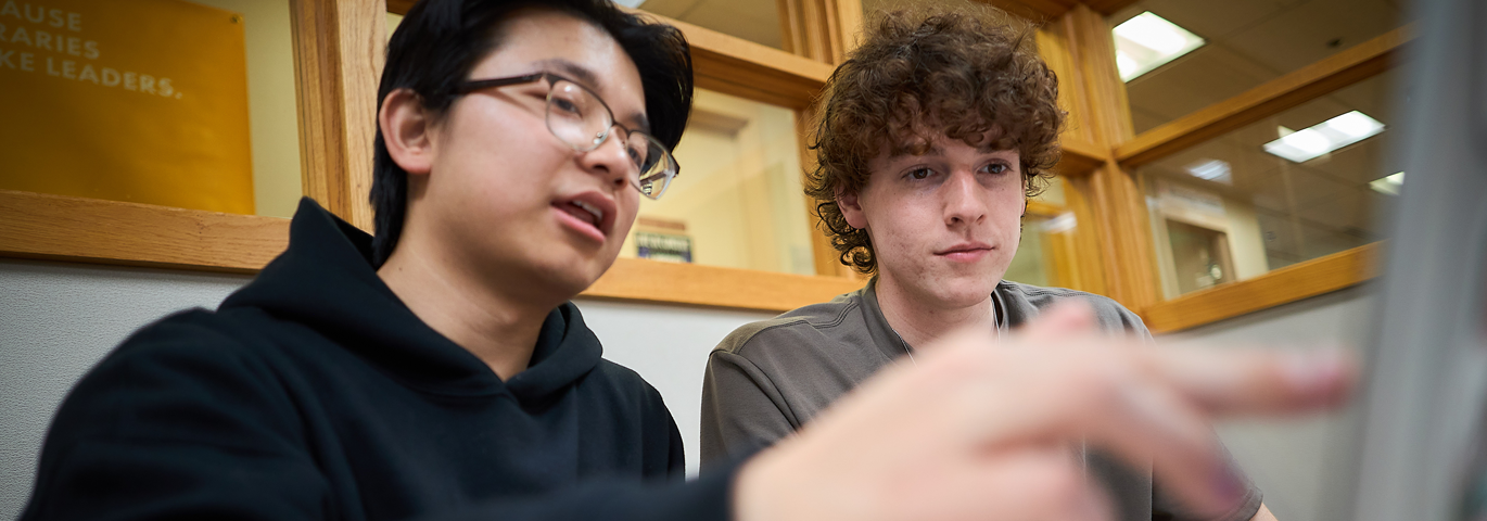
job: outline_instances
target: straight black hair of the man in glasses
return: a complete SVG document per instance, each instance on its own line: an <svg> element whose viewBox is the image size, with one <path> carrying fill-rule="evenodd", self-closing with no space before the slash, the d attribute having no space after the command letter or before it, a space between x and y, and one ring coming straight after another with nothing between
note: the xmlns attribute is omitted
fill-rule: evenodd
<svg viewBox="0 0 1487 521"><path fill-rule="evenodd" d="M611 0L424 0L409 9L387 46L378 86L378 110L396 89L412 89L424 109L443 115L458 97L455 86L500 45L497 28L522 7L556 9L604 28L635 61L645 89L651 135L675 149L691 112L691 48L675 27L623 12ZM376 132L372 210L376 234L372 263L382 266L397 247L407 214L407 171L387 152Z"/></svg>

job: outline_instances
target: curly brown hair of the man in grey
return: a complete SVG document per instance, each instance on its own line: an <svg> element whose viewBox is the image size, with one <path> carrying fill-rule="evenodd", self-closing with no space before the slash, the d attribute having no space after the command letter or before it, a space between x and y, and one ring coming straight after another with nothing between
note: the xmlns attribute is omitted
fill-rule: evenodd
<svg viewBox="0 0 1487 521"><path fill-rule="evenodd" d="M968 146L1017 149L1028 196L1041 194L1059 162L1059 80L1033 49L1033 27L995 7L895 10L876 16L862 45L827 82L806 173L806 195L842 263L877 271L865 229L848 225L837 194L858 194L868 161L923 155L934 131Z"/></svg>

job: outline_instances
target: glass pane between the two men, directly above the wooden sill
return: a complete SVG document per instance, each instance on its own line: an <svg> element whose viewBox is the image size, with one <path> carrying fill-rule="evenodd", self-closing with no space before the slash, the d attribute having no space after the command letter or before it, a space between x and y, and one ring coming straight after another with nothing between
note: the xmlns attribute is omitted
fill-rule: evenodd
<svg viewBox="0 0 1487 521"><path fill-rule="evenodd" d="M622 256L815 274L796 115L697 89L681 174L642 199Z"/></svg>

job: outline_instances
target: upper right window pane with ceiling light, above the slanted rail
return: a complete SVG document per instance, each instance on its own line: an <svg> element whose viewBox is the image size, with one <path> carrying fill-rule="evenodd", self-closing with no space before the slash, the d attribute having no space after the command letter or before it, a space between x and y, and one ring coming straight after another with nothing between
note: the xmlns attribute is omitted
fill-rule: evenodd
<svg viewBox="0 0 1487 521"><path fill-rule="evenodd" d="M1206 43L1126 83L1138 134L1407 22L1407 9L1396 0L1141 0L1106 21L1114 28L1145 12ZM1148 46L1181 48L1175 37L1145 40ZM1133 61L1145 51L1135 48L1124 60Z"/></svg>

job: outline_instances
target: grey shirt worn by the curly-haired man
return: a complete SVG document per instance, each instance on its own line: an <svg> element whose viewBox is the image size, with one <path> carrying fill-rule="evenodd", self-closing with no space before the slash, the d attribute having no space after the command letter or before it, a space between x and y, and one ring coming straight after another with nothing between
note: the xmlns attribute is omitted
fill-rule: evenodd
<svg viewBox="0 0 1487 521"><path fill-rule="evenodd" d="M876 281L830 302L745 325L712 350L702 384L703 472L788 436L909 353L877 307ZM1008 329L1065 298L1088 301L1103 330L1151 338L1141 317L1099 295L1002 281L992 305L998 327ZM1117 500L1121 520L1197 520L1152 490L1149 466L1132 469L1099 451L1081 456ZM1243 506L1219 520L1249 520L1259 503L1259 490L1249 485Z"/></svg>

